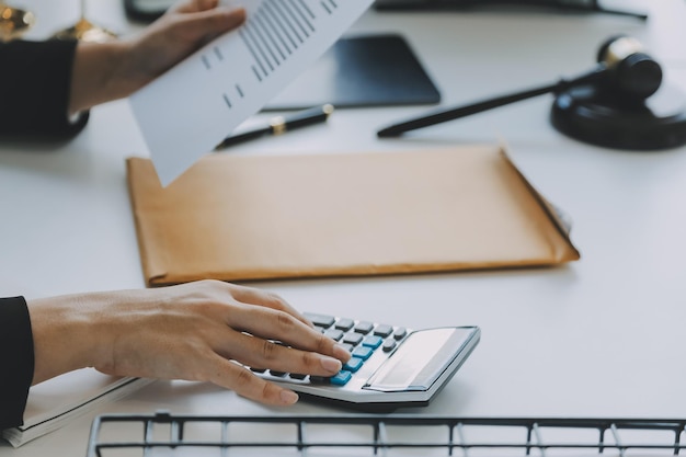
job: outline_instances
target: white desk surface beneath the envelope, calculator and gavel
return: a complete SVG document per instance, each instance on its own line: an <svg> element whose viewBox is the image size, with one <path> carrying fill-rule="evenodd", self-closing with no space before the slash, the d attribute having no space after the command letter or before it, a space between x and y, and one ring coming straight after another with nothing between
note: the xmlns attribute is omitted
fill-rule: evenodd
<svg viewBox="0 0 686 457"><path fill-rule="evenodd" d="M76 20L76 0L16 0L42 38ZM73 3L73 4L72 4ZM116 0L91 18L127 33ZM686 89L686 2L645 0L647 23L613 15L369 11L354 33L400 32L445 105L525 89L593 65L608 36L647 42ZM328 124L231 153L327 153L505 141L521 170L574 220L579 262L556 269L256 283L300 309L412 328L478 324L482 341L426 409L472 416L686 418L686 147L629 152L587 146L548 122L551 98L379 140L378 127L428 107L339 110ZM260 116L258 116L260 117ZM254 121L254 119L253 119ZM146 149L125 101L92 111L61 145L0 140L0 296L142 287L124 158ZM210 385L158 381L99 412L198 414L272 410ZM1 455L83 455L94 414Z"/></svg>

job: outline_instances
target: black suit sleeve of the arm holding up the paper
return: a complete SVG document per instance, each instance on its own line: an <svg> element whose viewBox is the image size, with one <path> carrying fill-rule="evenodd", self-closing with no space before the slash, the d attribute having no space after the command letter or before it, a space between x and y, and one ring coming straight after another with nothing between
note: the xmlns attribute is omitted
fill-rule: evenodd
<svg viewBox="0 0 686 457"><path fill-rule="evenodd" d="M14 41L0 44L0 136L70 137L88 121L68 107L77 42Z"/></svg>

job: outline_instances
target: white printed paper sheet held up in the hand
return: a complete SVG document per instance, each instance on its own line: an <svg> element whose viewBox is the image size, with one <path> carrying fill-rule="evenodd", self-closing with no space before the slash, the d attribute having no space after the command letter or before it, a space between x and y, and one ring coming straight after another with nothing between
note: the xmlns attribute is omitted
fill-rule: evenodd
<svg viewBox="0 0 686 457"><path fill-rule="evenodd" d="M243 26L130 96L162 185L312 65L373 0L244 0Z"/></svg>

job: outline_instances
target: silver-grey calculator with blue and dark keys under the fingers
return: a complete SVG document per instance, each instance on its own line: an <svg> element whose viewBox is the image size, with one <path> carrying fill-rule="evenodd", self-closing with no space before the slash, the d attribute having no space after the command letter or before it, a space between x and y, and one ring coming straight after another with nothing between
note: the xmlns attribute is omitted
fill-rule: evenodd
<svg viewBox="0 0 686 457"><path fill-rule="evenodd" d="M351 352L333 377L275 370L259 376L297 391L305 400L367 412L425 407L479 343L478 327L404 327L306 312L322 333Z"/></svg>

